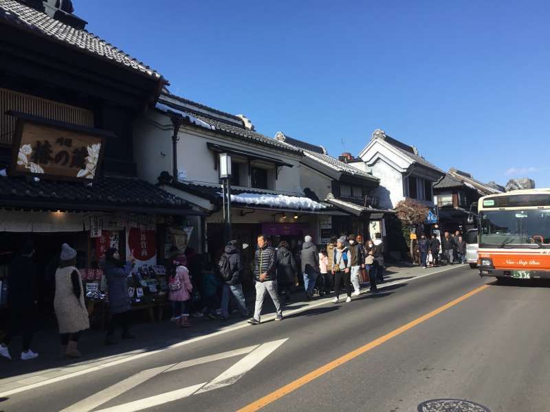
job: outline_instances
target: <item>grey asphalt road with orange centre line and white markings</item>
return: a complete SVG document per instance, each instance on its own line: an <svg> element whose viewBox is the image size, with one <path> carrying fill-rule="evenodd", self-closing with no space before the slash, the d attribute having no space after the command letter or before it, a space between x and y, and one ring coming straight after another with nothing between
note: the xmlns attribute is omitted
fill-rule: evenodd
<svg viewBox="0 0 550 412"><path fill-rule="evenodd" d="M468 266L404 282L15 393L0 411L236 411L266 396L265 411L417 411L447 398L550 410L549 284L496 286Z"/></svg>

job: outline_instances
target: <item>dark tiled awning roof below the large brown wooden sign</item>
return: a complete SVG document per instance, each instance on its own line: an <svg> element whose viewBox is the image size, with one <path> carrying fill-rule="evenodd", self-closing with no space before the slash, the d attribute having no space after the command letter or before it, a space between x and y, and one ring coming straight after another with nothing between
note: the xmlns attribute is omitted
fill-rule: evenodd
<svg viewBox="0 0 550 412"><path fill-rule="evenodd" d="M3 209L124 211L202 215L183 199L140 179L98 176L94 183L0 176Z"/></svg>

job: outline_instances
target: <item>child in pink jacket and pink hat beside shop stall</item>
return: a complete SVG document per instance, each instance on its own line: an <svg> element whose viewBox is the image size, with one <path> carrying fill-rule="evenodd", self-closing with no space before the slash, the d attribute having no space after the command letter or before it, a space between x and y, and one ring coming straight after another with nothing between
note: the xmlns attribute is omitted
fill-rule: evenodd
<svg viewBox="0 0 550 412"><path fill-rule="evenodd" d="M168 288L170 289L168 297L172 301L173 318L177 325L183 328L191 326L186 306L189 299L191 299L193 290L186 264L187 259L184 255L177 256L173 261L175 273L168 279Z"/></svg>

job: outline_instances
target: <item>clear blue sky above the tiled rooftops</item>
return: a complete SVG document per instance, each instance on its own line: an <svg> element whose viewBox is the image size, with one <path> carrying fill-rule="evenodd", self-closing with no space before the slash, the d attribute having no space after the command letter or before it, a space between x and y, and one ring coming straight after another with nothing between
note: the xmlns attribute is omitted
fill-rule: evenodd
<svg viewBox="0 0 550 412"><path fill-rule="evenodd" d="M170 91L256 130L365 146L375 128L443 170L550 187L550 2L74 0Z"/></svg>

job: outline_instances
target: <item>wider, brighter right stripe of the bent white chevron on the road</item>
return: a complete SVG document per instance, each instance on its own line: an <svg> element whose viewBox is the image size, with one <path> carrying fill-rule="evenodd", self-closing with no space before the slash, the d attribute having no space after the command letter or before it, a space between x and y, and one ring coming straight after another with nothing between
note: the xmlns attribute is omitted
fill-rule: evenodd
<svg viewBox="0 0 550 412"><path fill-rule="evenodd" d="M195 393L203 393L207 391L212 391L214 389L219 389L221 387L226 387L228 385L234 384L237 380L243 377L250 369L258 365L263 361L269 354L274 352L279 346L283 345L288 340L288 338L281 339L279 341L273 341L268 343L263 343L259 347L255 347L252 352L247 356L242 358L240 361L235 363L232 367L224 371L221 375L214 378L210 382L204 382L199 385L194 385L191 387L186 387L183 389L176 389L175 391L160 393L159 395L150 396L149 398L144 398L140 400L134 400L132 402L127 402L125 404L120 404L115 407L110 407L107 409L100 409L98 412L136 412L142 411L143 409L148 409L152 407L157 407L159 405L174 402L175 400L180 400L187 398L188 396L194 395ZM170 366L170 365L168 365ZM171 371L173 369L166 369L164 371ZM159 369L159 368L155 368ZM149 371L155 371L155 369L149 369ZM92 408L93 409L93 408ZM83 411L83 409L74 409L74 411ZM87 409L86 411L89 411Z"/></svg>

